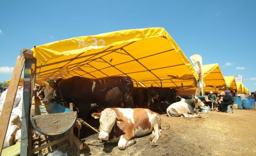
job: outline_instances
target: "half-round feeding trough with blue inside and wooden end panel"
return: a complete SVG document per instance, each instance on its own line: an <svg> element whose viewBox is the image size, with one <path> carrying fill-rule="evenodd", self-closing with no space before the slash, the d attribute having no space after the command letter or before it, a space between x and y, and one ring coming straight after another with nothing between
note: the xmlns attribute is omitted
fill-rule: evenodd
<svg viewBox="0 0 256 156"><path fill-rule="evenodd" d="M77 112L60 104L43 104L32 100L30 119L33 127L44 135L59 135L68 131L77 121Z"/></svg>

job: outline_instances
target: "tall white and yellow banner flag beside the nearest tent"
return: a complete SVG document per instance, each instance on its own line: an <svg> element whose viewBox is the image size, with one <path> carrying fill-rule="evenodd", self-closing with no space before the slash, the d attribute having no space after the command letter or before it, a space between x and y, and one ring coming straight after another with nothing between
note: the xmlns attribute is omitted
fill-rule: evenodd
<svg viewBox="0 0 256 156"><path fill-rule="evenodd" d="M204 92L204 81L203 81L203 72L202 72L202 57L198 54L195 54L195 55L192 55L189 57L192 61L192 63L194 64L196 70L197 70L197 73L199 75L199 79L201 77L201 83L202 83L202 95L204 96L205 95L205 92ZM200 84L199 84L200 85ZM200 90L199 90L200 92Z"/></svg>

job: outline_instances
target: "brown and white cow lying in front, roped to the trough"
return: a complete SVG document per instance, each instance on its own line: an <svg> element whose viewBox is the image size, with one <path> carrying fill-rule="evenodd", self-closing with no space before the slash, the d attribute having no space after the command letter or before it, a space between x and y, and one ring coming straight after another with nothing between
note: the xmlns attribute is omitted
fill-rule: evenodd
<svg viewBox="0 0 256 156"><path fill-rule="evenodd" d="M135 137L150 135L152 146L156 146L161 133L161 117L159 114L143 108L107 108L101 113L92 113L92 117L100 118L99 138L108 143L118 142L119 149L135 144Z"/></svg>

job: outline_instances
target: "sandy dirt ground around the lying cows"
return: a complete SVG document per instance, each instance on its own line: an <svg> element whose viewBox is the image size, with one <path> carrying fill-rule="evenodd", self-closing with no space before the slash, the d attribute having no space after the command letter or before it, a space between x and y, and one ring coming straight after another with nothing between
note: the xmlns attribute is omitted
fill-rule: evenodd
<svg viewBox="0 0 256 156"><path fill-rule="evenodd" d="M117 143L101 142L98 134L86 127L81 134L85 156L241 156L256 155L256 110L234 110L232 113L211 111L202 118L170 118L162 114L162 130L158 146L151 147L149 135L135 138L136 144L121 151ZM94 121L93 121L94 120ZM98 120L92 119L97 127ZM85 126L84 126L85 127ZM69 148L61 150L74 156Z"/></svg>

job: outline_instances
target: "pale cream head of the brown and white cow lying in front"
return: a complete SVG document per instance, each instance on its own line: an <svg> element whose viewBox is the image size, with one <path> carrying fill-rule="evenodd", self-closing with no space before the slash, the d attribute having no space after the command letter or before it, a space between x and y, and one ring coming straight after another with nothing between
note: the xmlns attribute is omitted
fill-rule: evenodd
<svg viewBox="0 0 256 156"><path fill-rule="evenodd" d="M115 123L123 123L123 120L117 119L116 112L110 108L104 109L101 113L92 113L95 119L100 118L100 133L99 139L108 140L108 136L115 126Z"/></svg>

